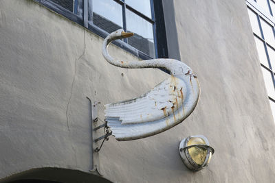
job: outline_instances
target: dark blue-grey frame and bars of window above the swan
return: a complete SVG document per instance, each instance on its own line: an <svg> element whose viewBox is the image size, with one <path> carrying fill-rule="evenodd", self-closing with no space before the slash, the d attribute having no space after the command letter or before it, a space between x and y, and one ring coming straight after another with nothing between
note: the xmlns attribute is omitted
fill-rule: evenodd
<svg viewBox="0 0 275 183"><path fill-rule="evenodd" d="M82 25L83 27L89 29L91 32L94 32L98 36L102 38L106 38L109 33L105 32L100 27L94 25L92 21L89 20L89 16L92 16L92 10L91 5L89 3L92 3L89 0L83 0L83 16L80 16L76 14L77 8L78 8L78 0L74 0L74 10L73 12L67 10L66 8L63 8L61 5L58 5L54 3L51 0L33 0L37 3L40 3L41 5L44 5L46 8L49 8L50 10L53 10L54 12L61 14L65 16L67 19L74 21L78 23L79 25ZM132 8L131 6L124 3L124 0L113 0L116 3L119 3L122 5L122 18L123 20L123 27L126 27L126 21L125 21L125 10L126 8L128 10L131 10L131 12L134 12L138 16L141 16L142 19L145 19L146 21L153 23L153 36L154 36L154 45L155 45L155 58L168 58L168 48L167 48L167 40L166 40L166 27L164 23L164 11L162 7L162 1L159 0L150 0L151 1L151 12L152 12L152 19L148 18L148 16L145 16L142 14L142 12L139 12ZM123 8L124 6L124 8ZM157 17L157 19L155 19ZM149 20L150 19L150 20ZM152 21L153 20L153 21ZM126 29L125 29L126 31ZM117 45L118 47L129 51L134 56L137 56L138 58L142 60L152 59L150 56L148 56L146 53L143 53L142 51L135 49L131 45L127 44L125 40L115 40L113 41L114 45Z"/></svg>

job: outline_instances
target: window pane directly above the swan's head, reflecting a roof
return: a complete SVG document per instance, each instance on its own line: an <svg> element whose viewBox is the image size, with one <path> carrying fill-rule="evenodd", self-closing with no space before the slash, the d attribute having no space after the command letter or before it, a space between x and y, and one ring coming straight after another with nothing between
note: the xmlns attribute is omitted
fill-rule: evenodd
<svg viewBox="0 0 275 183"><path fill-rule="evenodd" d="M123 27L122 6L113 0L93 0L93 21L106 32Z"/></svg>

